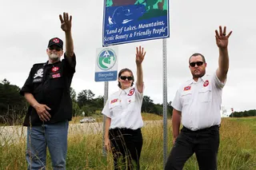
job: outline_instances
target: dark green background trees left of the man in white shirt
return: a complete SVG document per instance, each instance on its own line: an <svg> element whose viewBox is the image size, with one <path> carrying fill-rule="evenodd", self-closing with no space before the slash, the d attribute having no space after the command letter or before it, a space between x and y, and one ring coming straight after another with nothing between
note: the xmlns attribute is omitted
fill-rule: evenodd
<svg viewBox="0 0 256 170"><path fill-rule="evenodd" d="M4 79L0 81L0 124L14 125L22 124L29 104L25 97L19 94L20 88L17 85L11 85L10 81ZM70 96L73 103L73 117L93 116L101 114L104 107L104 97L95 97L90 89L84 89L80 93L70 88ZM149 96L143 97L142 113L154 113L162 115L162 104L154 104ZM171 101L167 103L167 114L172 115Z"/></svg>

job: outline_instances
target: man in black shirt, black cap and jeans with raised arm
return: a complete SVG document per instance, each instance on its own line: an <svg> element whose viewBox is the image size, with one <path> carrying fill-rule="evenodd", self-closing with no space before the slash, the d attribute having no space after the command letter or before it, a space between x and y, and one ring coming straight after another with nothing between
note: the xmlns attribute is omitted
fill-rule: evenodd
<svg viewBox="0 0 256 170"><path fill-rule="evenodd" d="M76 59L71 34L72 16L59 15L66 35L66 53L60 38L51 38L46 49L48 61L34 64L20 93L30 103L27 126L26 160L28 169L46 168L49 148L53 169L66 169L67 133L72 118L70 84ZM60 58L64 53L64 59Z"/></svg>

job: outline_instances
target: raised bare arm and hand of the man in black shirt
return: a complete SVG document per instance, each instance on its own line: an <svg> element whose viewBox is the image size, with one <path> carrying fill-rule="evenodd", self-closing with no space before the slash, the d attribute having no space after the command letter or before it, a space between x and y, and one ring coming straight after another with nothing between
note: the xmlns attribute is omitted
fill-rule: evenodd
<svg viewBox="0 0 256 170"><path fill-rule="evenodd" d="M74 56L74 43L73 43L73 38L71 34L71 26L72 26L72 16L68 13L63 13L63 18L62 15L59 15L59 19L61 21L61 28L65 32L66 36L66 57L68 61L71 61L70 57Z"/></svg>

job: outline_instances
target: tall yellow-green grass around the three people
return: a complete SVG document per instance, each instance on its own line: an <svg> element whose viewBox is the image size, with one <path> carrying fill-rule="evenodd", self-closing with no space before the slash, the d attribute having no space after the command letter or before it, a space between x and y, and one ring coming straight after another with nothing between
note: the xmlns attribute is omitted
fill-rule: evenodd
<svg viewBox="0 0 256 170"><path fill-rule="evenodd" d="M143 148L141 156L142 170L163 169L162 152L162 117L143 113L144 121L153 124L142 128ZM78 122L75 118L71 123ZM102 117L96 118L98 122ZM168 154L171 148L171 124L168 120ZM97 123L96 123L97 125ZM111 155L102 155L102 132L86 134L81 128L76 134L69 134L66 169L113 169ZM1 132L0 132L1 135ZM0 136L4 137L4 136ZM218 152L218 169L220 170L255 170L256 169L256 117L222 118L220 128L221 143ZM0 145L0 170L26 169L26 140L21 137L14 144ZM47 154L46 169L50 167L50 155ZM184 170L196 170L198 164L195 156L186 162Z"/></svg>

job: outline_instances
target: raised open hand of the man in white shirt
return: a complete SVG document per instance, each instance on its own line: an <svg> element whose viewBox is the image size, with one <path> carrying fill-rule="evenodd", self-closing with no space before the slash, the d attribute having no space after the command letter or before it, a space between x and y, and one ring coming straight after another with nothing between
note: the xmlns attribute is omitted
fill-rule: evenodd
<svg viewBox="0 0 256 170"><path fill-rule="evenodd" d="M215 34L216 44L218 45L218 48L226 48L229 43L229 38L230 35L232 34L232 31L230 31L230 33L226 35L226 26L224 26L223 31L222 26L219 26L219 33L218 30L215 30Z"/></svg>

